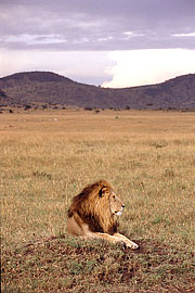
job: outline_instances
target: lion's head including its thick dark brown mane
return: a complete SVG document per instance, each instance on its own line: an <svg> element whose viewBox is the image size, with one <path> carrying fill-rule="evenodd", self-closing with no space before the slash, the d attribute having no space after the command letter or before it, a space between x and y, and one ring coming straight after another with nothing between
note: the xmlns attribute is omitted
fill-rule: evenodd
<svg viewBox="0 0 195 293"><path fill-rule="evenodd" d="M86 187L73 199L68 217L76 213L91 231L113 234L117 231L117 216L121 215L123 207L110 184L100 180Z"/></svg>

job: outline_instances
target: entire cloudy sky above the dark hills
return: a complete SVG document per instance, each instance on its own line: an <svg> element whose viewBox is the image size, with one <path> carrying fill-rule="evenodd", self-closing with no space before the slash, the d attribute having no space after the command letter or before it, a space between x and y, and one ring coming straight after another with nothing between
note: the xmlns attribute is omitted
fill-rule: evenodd
<svg viewBox="0 0 195 293"><path fill-rule="evenodd" d="M113 88L195 73L195 0L0 0L0 77L28 71Z"/></svg>

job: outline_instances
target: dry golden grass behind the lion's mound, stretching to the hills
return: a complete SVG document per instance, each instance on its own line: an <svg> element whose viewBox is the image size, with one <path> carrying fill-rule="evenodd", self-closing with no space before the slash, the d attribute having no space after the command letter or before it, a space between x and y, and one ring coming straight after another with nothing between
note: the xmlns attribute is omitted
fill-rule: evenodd
<svg viewBox="0 0 195 293"><path fill-rule="evenodd" d="M2 249L66 234L70 199L104 178L126 202L121 232L194 251L194 113L0 115Z"/></svg>

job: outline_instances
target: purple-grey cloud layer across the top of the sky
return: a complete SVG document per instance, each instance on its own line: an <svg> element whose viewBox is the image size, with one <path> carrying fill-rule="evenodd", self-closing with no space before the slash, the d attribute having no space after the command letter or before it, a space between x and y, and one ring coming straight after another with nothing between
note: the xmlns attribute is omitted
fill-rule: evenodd
<svg viewBox="0 0 195 293"><path fill-rule="evenodd" d="M194 0L1 0L9 49L195 48Z"/></svg>

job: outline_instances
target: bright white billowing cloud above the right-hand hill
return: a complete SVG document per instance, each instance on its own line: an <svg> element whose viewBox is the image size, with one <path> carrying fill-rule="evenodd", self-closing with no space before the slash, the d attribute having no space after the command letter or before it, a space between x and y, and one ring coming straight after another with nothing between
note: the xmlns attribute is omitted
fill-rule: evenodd
<svg viewBox="0 0 195 293"><path fill-rule="evenodd" d="M121 88L157 84L169 78L195 73L195 50L131 50L109 53L115 62L107 68L113 79L103 87Z"/></svg>

